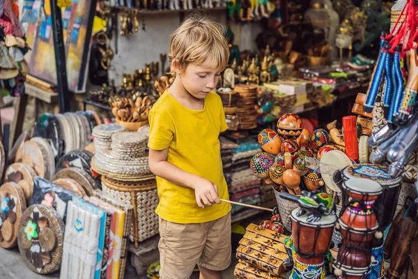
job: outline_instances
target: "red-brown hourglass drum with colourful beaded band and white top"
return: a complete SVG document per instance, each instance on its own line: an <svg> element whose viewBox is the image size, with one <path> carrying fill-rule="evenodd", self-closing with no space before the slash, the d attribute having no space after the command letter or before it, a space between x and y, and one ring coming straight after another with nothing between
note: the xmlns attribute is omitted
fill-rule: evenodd
<svg viewBox="0 0 418 279"><path fill-rule="evenodd" d="M334 274L337 278L366 278L372 264L376 264L371 255L372 241L382 238L381 233L376 233L379 225L374 205L382 186L364 178L348 179L342 186L345 202L336 227L343 241L334 261Z"/></svg>

